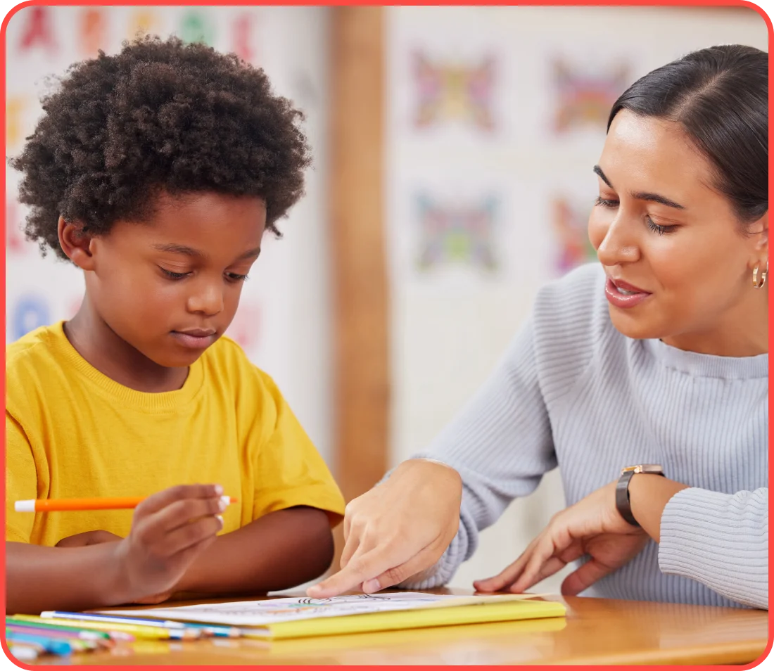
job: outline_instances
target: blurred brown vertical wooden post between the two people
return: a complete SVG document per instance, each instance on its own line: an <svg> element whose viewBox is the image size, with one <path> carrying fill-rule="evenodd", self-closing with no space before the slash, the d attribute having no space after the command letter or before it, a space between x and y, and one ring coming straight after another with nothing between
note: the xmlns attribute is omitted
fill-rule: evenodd
<svg viewBox="0 0 774 671"><path fill-rule="evenodd" d="M348 501L382 478L388 464L384 11L331 9L334 454Z"/></svg>

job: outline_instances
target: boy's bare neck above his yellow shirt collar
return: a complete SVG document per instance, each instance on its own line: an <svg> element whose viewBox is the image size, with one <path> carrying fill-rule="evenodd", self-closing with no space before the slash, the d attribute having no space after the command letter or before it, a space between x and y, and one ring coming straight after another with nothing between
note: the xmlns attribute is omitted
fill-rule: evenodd
<svg viewBox="0 0 774 671"><path fill-rule="evenodd" d="M119 385L138 392L173 392L188 377L188 368L167 368L151 361L118 336L94 313L88 299L64 324L67 340L80 356Z"/></svg>

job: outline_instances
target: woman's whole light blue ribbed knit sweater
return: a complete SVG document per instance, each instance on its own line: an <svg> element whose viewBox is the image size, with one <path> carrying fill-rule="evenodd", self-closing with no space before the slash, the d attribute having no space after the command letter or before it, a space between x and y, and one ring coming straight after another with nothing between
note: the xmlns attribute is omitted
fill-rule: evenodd
<svg viewBox="0 0 774 671"><path fill-rule="evenodd" d="M416 455L461 474L461 523L430 577L402 587L450 580L478 533L557 465L573 505L647 463L690 488L666 505L660 545L584 596L768 608L768 375L768 354L625 337L598 263L545 286L488 382Z"/></svg>

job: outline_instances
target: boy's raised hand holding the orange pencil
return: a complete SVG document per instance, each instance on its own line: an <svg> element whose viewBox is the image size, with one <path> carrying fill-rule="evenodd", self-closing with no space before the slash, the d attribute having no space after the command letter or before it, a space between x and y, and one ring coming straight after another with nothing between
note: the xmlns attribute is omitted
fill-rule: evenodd
<svg viewBox="0 0 774 671"><path fill-rule="evenodd" d="M125 602L168 597L223 528L222 494L218 485L180 485L135 508L132 531L115 553Z"/></svg>

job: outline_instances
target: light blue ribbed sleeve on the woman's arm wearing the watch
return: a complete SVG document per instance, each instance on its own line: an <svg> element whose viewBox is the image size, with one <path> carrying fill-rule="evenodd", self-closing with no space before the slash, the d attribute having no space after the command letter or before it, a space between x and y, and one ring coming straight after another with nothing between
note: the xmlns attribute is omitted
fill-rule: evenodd
<svg viewBox="0 0 774 671"><path fill-rule="evenodd" d="M769 489L677 492L661 517L659 568L769 608Z"/></svg>

